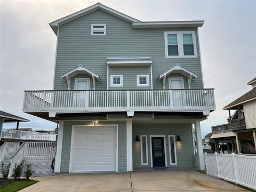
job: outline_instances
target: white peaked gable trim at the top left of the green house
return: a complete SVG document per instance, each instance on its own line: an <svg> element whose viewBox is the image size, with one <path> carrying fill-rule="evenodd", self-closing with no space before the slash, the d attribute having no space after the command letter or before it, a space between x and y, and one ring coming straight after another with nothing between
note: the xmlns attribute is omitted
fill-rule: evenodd
<svg viewBox="0 0 256 192"><path fill-rule="evenodd" d="M77 11L75 13L67 15L66 17L63 17L63 18L58 19L58 20L55 20L55 21L49 23L49 25L50 26L59 26L59 25L62 25L63 23L66 23L68 21L74 20L74 19L76 19L78 17L81 17L81 16L83 16L85 14L91 13L91 12L93 12L95 10L98 10L98 9L100 9L102 11L105 11L107 13L113 14L116 17L124 19L124 20L129 21L129 22L139 22L139 20L134 19L134 18L132 18L132 17L130 17L130 16L124 14L124 13L121 13L119 11L111 9L110 7L107 7L107 6L102 5L100 3L96 3L96 4L92 5L92 6L89 6L89 7L85 8L85 9L83 9L83 10Z"/></svg>

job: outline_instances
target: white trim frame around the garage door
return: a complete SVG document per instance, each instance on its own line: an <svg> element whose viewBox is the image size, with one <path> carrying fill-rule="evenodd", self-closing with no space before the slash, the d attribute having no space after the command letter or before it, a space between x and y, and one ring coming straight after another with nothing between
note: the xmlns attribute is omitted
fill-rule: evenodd
<svg viewBox="0 0 256 192"><path fill-rule="evenodd" d="M70 143L70 156L69 156L69 170L68 172L72 172L72 157L73 157L73 147L74 147L74 132L76 127L100 127L100 126L111 126L116 127L116 172L118 172L118 124L111 124L111 125L72 125L72 131L71 131L71 143Z"/></svg>

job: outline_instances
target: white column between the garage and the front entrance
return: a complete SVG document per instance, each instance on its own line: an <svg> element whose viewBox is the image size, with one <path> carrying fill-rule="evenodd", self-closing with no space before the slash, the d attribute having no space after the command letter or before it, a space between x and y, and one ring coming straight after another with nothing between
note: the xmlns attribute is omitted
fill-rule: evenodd
<svg viewBox="0 0 256 192"><path fill-rule="evenodd" d="M126 119L126 170L132 171L132 119Z"/></svg>

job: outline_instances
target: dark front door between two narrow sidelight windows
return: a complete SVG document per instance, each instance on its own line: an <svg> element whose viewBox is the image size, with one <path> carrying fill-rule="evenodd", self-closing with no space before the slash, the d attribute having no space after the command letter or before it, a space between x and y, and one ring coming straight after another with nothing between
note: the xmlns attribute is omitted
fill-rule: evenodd
<svg viewBox="0 0 256 192"><path fill-rule="evenodd" d="M153 137L151 143L153 167L165 167L164 138Z"/></svg>

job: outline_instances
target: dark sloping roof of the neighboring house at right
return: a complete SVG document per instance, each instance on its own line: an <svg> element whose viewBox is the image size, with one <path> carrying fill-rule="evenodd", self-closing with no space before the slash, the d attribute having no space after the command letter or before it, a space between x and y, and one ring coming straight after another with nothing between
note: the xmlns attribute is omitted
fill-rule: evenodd
<svg viewBox="0 0 256 192"><path fill-rule="evenodd" d="M223 109L236 109L237 106L242 105L245 102L252 101L256 99L256 87L254 87L251 91L248 91L235 101L229 103Z"/></svg>

